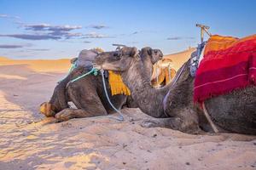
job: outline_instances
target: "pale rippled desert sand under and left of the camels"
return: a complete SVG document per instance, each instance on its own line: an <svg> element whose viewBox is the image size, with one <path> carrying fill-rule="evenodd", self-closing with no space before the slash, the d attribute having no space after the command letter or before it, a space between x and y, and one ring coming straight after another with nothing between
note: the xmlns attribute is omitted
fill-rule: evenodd
<svg viewBox="0 0 256 170"><path fill-rule="evenodd" d="M138 109L122 110L125 122L105 116L54 123L38 114L38 105L68 65L0 59L1 170L256 168L256 136L144 128L150 117Z"/></svg>

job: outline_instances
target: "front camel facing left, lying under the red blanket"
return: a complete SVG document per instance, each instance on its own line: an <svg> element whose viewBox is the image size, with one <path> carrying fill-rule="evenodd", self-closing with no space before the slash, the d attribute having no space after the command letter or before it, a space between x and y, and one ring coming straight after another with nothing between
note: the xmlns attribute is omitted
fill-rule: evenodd
<svg viewBox="0 0 256 170"><path fill-rule="evenodd" d="M119 59L108 55L96 57L95 65L107 71L119 71L130 88L132 98L148 116L158 119L143 122L144 127L170 127L184 133L201 133L206 117L193 102L194 77L189 74L189 60L164 88L153 88L143 71L143 63L135 57ZM179 78L177 78L179 77ZM170 90L169 95L166 95ZM163 100L166 97L166 105ZM256 134L256 87L247 87L205 101L212 122L219 132ZM208 125L208 124L207 124Z"/></svg>

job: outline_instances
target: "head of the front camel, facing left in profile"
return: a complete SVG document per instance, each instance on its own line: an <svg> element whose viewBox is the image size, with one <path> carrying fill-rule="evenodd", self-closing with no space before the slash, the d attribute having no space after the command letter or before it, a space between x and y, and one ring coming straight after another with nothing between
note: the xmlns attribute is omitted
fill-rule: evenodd
<svg viewBox="0 0 256 170"><path fill-rule="evenodd" d="M107 71L126 71L138 59L137 48L125 47L119 51L99 54L95 59L94 66Z"/></svg>

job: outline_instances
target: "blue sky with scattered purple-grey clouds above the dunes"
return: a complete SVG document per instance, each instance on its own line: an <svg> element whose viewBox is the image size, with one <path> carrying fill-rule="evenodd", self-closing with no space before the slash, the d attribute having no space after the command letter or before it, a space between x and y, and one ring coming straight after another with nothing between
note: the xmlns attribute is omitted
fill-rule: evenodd
<svg viewBox="0 0 256 170"><path fill-rule="evenodd" d="M72 58L113 43L172 54L200 42L196 23L212 34L255 34L255 7L255 0L0 0L0 56Z"/></svg>

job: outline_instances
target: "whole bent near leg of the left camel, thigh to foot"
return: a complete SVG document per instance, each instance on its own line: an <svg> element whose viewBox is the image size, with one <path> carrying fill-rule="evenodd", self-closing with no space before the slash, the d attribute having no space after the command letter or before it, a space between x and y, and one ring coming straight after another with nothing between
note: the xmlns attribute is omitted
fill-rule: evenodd
<svg viewBox="0 0 256 170"><path fill-rule="evenodd" d="M67 121L72 118L91 116L106 116L108 112L102 105L102 101L96 93L95 83L90 77L85 77L78 82L73 82L67 88L67 94L78 109L65 109L55 115L58 122ZM82 86L81 84L84 84Z"/></svg>

